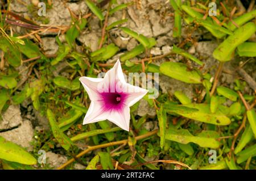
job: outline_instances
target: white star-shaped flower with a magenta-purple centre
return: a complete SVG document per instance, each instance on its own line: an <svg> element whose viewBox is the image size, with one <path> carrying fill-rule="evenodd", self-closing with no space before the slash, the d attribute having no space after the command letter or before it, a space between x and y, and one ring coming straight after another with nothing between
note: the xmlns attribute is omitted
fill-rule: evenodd
<svg viewBox="0 0 256 181"><path fill-rule="evenodd" d="M130 107L142 99L148 90L126 83L120 61L117 60L104 78L81 77L79 80L91 100L83 124L108 119L129 131Z"/></svg>

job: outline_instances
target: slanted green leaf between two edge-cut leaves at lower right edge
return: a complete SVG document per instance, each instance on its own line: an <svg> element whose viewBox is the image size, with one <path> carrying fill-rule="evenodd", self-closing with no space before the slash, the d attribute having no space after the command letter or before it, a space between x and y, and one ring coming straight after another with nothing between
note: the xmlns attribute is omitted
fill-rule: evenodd
<svg viewBox="0 0 256 181"><path fill-rule="evenodd" d="M234 154L239 153L245 146L252 140L253 131L249 125L246 126L245 131L242 134L240 141L237 144L236 149L234 150Z"/></svg>

